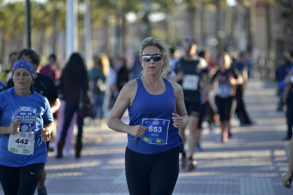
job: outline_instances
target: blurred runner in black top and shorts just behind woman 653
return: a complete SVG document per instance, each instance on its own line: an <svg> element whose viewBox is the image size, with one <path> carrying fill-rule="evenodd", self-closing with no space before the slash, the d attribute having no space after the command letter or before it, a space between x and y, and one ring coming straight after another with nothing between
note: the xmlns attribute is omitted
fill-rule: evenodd
<svg viewBox="0 0 293 195"><path fill-rule="evenodd" d="M196 56L196 45L192 39L186 39L183 43L185 49L185 56L183 56L175 65L176 78L175 82L178 82L184 94L184 103L189 118L189 162L188 169L194 169L196 161L193 161L193 153L195 152L195 146L200 140L201 128L198 127L201 109L201 92L200 92L200 76L202 73L201 63ZM180 137L185 143L185 128L179 129ZM181 167L185 168L186 154L183 152L181 159Z"/></svg>

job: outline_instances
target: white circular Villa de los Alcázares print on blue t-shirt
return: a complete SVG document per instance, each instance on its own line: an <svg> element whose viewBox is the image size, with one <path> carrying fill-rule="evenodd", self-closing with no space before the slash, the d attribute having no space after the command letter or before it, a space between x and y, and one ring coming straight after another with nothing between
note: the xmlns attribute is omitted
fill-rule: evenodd
<svg viewBox="0 0 293 195"><path fill-rule="evenodd" d="M20 118L20 131L33 131L38 123L37 109L28 106L20 106L12 112L11 122Z"/></svg>

